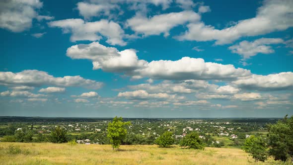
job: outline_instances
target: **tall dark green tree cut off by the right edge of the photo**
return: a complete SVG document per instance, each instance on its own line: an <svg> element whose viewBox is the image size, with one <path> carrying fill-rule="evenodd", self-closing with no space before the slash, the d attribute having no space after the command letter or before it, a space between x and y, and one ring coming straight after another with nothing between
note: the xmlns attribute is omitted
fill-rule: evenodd
<svg viewBox="0 0 293 165"><path fill-rule="evenodd" d="M276 124L268 125L269 154L275 160L293 161L293 116L279 120Z"/></svg>

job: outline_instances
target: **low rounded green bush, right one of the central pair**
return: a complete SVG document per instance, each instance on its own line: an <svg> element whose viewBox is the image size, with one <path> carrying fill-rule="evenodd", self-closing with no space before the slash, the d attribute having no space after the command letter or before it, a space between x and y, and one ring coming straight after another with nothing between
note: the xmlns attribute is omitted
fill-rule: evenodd
<svg viewBox="0 0 293 165"><path fill-rule="evenodd" d="M196 132L187 134L180 142L180 146L188 149L204 150L205 144Z"/></svg>

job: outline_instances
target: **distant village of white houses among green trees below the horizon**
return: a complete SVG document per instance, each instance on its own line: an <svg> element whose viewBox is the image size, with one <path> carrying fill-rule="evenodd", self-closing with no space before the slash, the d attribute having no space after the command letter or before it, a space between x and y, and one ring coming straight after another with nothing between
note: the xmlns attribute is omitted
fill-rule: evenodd
<svg viewBox="0 0 293 165"><path fill-rule="evenodd" d="M266 134L266 122L258 119L125 119L132 125L127 127L128 135L124 144L153 144L163 132L170 131L174 135L175 144L189 132L196 131L199 137L211 147L239 147L243 141L255 134ZM272 120L273 122L274 120ZM39 136L51 133L54 127L66 129L68 138L79 144L109 144L107 126L111 119L63 119L52 121L36 120L35 122L22 119L22 122L0 123L0 133L4 136L4 129L13 124L16 131L32 129Z"/></svg>

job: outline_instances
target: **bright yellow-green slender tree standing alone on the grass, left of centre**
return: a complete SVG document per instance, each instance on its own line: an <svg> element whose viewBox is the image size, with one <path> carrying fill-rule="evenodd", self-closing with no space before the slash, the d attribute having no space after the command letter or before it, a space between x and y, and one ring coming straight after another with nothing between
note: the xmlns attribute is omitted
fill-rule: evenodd
<svg viewBox="0 0 293 165"><path fill-rule="evenodd" d="M131 125L131 122L123 122L122 117L115 117L112 122L108 124L107 137L110 139L113 150L120 147L121 142L127 135L127 129L125 126Z"/></svg>

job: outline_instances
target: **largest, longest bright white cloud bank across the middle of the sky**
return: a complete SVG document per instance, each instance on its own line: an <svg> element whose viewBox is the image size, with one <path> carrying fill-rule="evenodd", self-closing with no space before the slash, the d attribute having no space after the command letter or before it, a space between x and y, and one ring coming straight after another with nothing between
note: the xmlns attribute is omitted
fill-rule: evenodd
<svg viewBox="0 0 293 165"><path fill-rule="evenodd" d="M73 45L67 56L72 59L89 59L93 69L106 72L125 72L128 76L141 76L160 80L227 80L250 76L249 70L233 65L205 62L201 58L183 57L177 61L159 60L147 62L139 60L136 51L105 47L97 42Z"/></svg>

